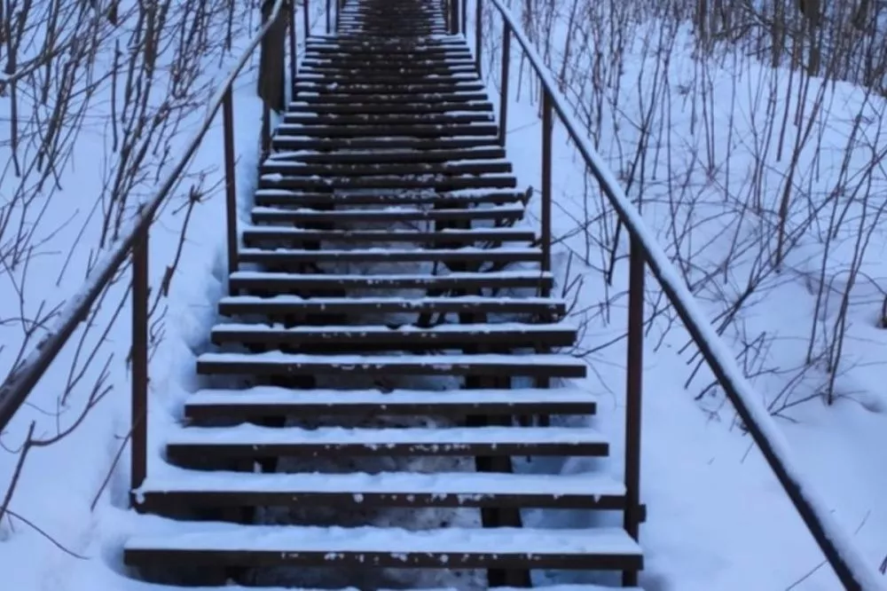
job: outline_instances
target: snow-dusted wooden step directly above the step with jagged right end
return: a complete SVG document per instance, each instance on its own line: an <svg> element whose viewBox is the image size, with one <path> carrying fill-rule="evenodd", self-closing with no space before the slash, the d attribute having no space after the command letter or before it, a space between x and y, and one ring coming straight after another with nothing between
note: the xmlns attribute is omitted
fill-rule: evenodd
<svg viewBox="0 0 887 591"><path fill-rule="evenodd" d="M508 174L462 177L290 177L280 174L259 177L261 188L288 188L302 191L348 191L356 189L423 189L443 193L462 189L514 189L517 179Z"/></svg>

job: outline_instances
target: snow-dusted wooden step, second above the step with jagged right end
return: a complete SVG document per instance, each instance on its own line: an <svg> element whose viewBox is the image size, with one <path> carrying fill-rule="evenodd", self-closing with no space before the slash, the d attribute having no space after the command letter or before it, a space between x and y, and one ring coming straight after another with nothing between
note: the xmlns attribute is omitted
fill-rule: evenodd
<svg viewBox="0 0 887 591"><path fill-rule="evenodd" d="M491 175L511 172L511 162L506 160L442 162L401 162L391 164L305 164L278 159L262 163L260 174L281 174L290 177L394 177L400 175Z"/></svg>

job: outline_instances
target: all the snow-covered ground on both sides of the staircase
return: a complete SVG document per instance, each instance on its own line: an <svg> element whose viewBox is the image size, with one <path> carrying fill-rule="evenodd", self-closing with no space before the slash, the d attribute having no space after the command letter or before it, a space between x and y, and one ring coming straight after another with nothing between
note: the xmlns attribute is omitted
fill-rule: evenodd
<svg viewBox="0 0 887 591"><path fill-rule="evenodd" d="M640 2L616 4L628 11ZM642 201L645 219L685 273L704 310L718 318L716 325L724 319L719 315L735 306L724 328L728 343L742 353L743 368L765 404L778 413L805 477L821 490L867 560L873 566L880 564L887 555L883 495L887 406L879 387L887 351L887 335L879 327L887 292L882 263L887 237L879 230L887 203L883 199L887 172L881 163L881 121L887 105L849 83L824 84L816 79L799 101L799 83L788 70L773 70L738 55L694 59L687 28L652 12L643 18L632 13L631 18L608 21L615 22L616 29L597 27L606 19L596 17L616 12L613 3L582 4L581 10L588 13L573 20L587 24L570 29L568 37L566 23L575 6L551 5L558 8L552 20L539 15L538 29L530 28L530 34L542 44L570 103L588 123L595 145L629 187L629 195ZM234 32L232 51L207 56L204 76L210 88L224 77L238 55L238 43L242 45L255 28L255 10L238 10L244 10L238 20L242 30ZM473 9L468 14L473 15ZM491 12L486 18L490 19L486 30L493 34L483 52L484 70L491 95L497 97L498 25ZM127 22L123 20L124 25ZM113 55L114 35L120 35L123 46L129 43L124 29L107 33L100 53L105 67ZM215 30L224 35L222 28ZM548 34L541 35L540 30ZM621 34L618 39L614 30ZM592 41L584 44L583 39ZM620 50L608 51L612 59L593 59L590 48L596 46ZM538 106L530 100L530 70L522 64L516 44L512 47L508 153L522 184L538 187ZM163 91L158 89L160 94L154 96ZM20 348L23 333L18 318L40 313L44 300L45 313L73 293L90 251L98 247L103 216L90 217L90 211L120 159L109 147L114 136L107 121L114 114L108 105L114 101L119 106L124 98L112 92L107 83L90 99L83 129L71 139L76 141L75 153L59 165L57 193L46 189L30 209L12 213L10 227L24 217L24 232L35 229L29 244L36 256L27 273L3 258L9 251L4 246L20 240L21 232L0 228L4 262L0 374L12 365ZM239 193L246 199L255 183L259 130L252 74L239 82L234 102ZM11 154L6 143L10 105L11 98L0 94L4 161ZM181 127L169 133L170 157L175 157L201 115L199 107L192 107ZM796 115L800 128L794 124ZM624 341L618 340L625 327L624 237L608 285L603 278L611 268L615 218L593 179L585 175L563 130L556 128L554 133L554 235L559 239L555 263L561 286L569 287L569 298L576 300L575 318L587 323L580 350L587 351L594 377L578 385L600 392L600 414L593 423L617 444L609 469L618 474L624 422ZM194 354L205 347L216 299L224 293L224 193L218 185L221 169L214 169L221 162L220 125L210 131L204 146L192 169L206 169L203 185L212 190L189 218L169 296L161 297L157 312L160 316L165 311L155 325L158 344L151 365L150 441L155 452L164 425L177 416L184 392L192 387ZM22 158L32 162L34 152ZM146 165L147 176L138 179L137 195L150 193L155 169L162 168L159 159ZM0 221L9 215L4 213L12 209L8 200L20 185L12 174L11 163L0 189ZM786 185L789 238L776 272L778 212ZM167 265L177 258L187 188L182 187L153 226L153 286L159 285ZM50 200L51 208L44 213L43 204ZM109 196L104 200L99 210L109 207ZM132 214L131 206L125 215ZM531 207L538 212L538 198ZM538 224L538 219L526 223ZM860 236L864 240L858 240ZM578 276L581 283L576 282ZM124 277L107 297L94 322L97 328L79 353L81 366L90 343L98 341L116 304L126 296L126 282ZM16 293L25 288L26 309L20 311ZM152 521L126 509L127 453L114 468L129 431L128 309L124 300L120 318L65 404L59 400L59 390L78 359L79 335L0 438L8 449L0 452L0 493L4 493L31 422L41 437L51 437L75 422L107 355L116 354L104 382L112 390L80 427L59 443L28 453L9 505L14 515L0 523L0 571L8 588L154 588L125 579L119 571L121 540ZM780 485L750 438L742 434L732 408L716 388L708 387L710 375L704 368L695 372L695 349L686 346L686 332L649 280L648 313L654 312L644 374L642 485L648 523L641 535L648 568L643 587L663 591L840 588L828 566L821 565L818 548ZM835 335L842 330L841 349L836 350ZM829 396L832 404L826 404ZM578 471L581 463L568 461L561 469ZM112 477L105 485L109 472ZM577 519L587 521L587 516L541 512L531 521L575 526ZM564 580L560 575L553 578Z"/></svg>

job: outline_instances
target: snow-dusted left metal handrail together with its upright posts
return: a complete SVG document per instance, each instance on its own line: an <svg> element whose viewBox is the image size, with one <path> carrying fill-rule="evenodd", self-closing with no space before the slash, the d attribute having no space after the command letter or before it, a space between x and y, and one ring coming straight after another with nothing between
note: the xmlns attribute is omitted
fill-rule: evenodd
<svg viewBox="0 0 887 591"><path fill-rule="evenodd" d="M303 0L304 10L308 12L308 0ZM287 8L288 10L285 10ZM132 310L132 488L141 485L145 477L146 455L146 429L145 411L147 403L148 359L147 359L147 240L148 230L152 225L153 217L160 209L163 202L169 197L169 193L180 182L182 173L191 162L197 152L201 141L206 136L209 127L220 108L224 106L224 143L225 143L225 181L227 199L228 233L227 238L229 266L236 266L237 232L236 232L236 203L234 189L234 150L233 150L233 114L232 114L232 88L237 76L246 66L255 48L263 42L266 35L281 18L288 14L294 17L294 0L275 0L271 11L263 26L253 37L253 40L243 51L237 64L232 68L224 83L216 91L209 105L208 114L204 117L200 129L197 130L192 140L187 144L184 155L161 183L160 188L153 197L142 204L136 218L130 222L127 229L122 232L122 238L116 240L99 259L98 264L90 272L90 276L83 284L81 290L75 296L68 299L66 305L59 313L54 327L48 331L35 345L19 366L15 367L4 382L0 384L0 431L11 421L25 403L37 382L51 366L51 363L59 354L67 340L74 334L76 328L87 318L92 306L98 300L98 296L108 287L114 274L122 267L128 256L132 256L133 262L133 310ZM295 62L295 19L289 18L291 75L294 80ZM306 31L308 29L306 28ZM281 47L281 51L285 51ZM280 73L282 76L282 73ZM265 109L267 117L267 108ZM267 130L265 130L267 133ZM264 143L265 138L263 138Z"/></svg>

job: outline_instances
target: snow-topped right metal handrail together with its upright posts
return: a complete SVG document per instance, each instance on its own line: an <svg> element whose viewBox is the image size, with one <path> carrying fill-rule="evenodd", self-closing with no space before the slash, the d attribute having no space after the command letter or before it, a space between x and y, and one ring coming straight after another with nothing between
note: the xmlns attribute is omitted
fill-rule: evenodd
<svg viewBox="0 0 887 591"><path fill-rule="evenodd" d="M467 12L467 0L462 0L461 7L455 5L456 1L451 0L451 32L459 30L459 11L461 11L461 32L467 34L465 30L465 16ZM476 16L475 16L475 59L480 65L481 43L483 41L483 27L481 26L480 16L483 10L483 0L475 0ZM884 589L881 579L875 574L875 570L867 564L860 550L857 549L851 537L836 523L831 515L828 507L820 500L820 496L815 492L814 487L807 479L802 477L797 470L797 462L794 461L789 450L789 444L785 437L777 428L773 418L766 411L765 406L761 403L753 390L750 382L742 374L742 370L736 362L733 353L726 346L718 333L712 327L709 319L706 317L702 309L697 305L695 297L687 288L684 280L682 280L679 272L671 264L671 260L665 254L665 251L655 236L648 230L647 225L643 221L640 212L632 205L627 194L619 185L616 177L609 171L606 163L597 154L592 146L591 141L579 132L579 127L575 119L567 110L567 101L558 91L558 86L554 82L552 75L548 72L543 59L539 56L538 51L523 33L521 26L514 19L510 10L502 3L502 0L489 0L493 7L502 17L504 24L503 31L503 73L507 73L506 62L509 61L508 49L510 46L510 36L514 35L514 39L521 46L524 55L529 60L531 67L536 71L539 82L544 89L543 99L543 147L545 148L546 139L550 146L550 122L551 110L556 112L565 130L569 133L569 137L573 140L580 154L582 154L586 167L591 170L593 176L600 184L600 188L610 204L616 209L616 213L631 235L631 262L630 262L630 282L631 288L629 293L629 316L642 320L643 315L643 274L645 266L649 266L655 279L659 282L663 292L668 297L671 305L687 332L692 336L699 351L703 354L703 358L708 363L713 374L718 379L720 387L726 393L727 398L733 404L737 414L739 414L746 429L751 434L765 460L773 469L773 473L779 479L783 490L789 496L792 504L797 509L798 514L804 520L807 529L812 533L813 538L819 544L822 553L825 555L828 563L835 570L838 579L848 590L856 591L875 591ZM453 23L457 23L456 27L452 27ZM466 35L467 36L467 35ZM505 41L507 40L507 41ZM507 76L506 76L507 77ZM502 104L506 105L506 89L507 81L503 79L503 98ZM500 117L504 120L506 110L500 110ZM505 115L505 116L503 116ZM506 123L500 120L501 130L506 130ZM503 133L504 135L504 133ZM502 138L504 140L504 138ZM545 152L545 149L544 149ZM547 158L550 158L550 148ZM544 173L545 177L545 162ZM550 177L550 162L547 164L548 176ZM546 179L543 178L543 185L546 185ZM550 186L550 178L548 179ZM550 195L543 191L543 199L550 201ZM550 192L549 192L550 193ZM548 205L550 209L550 204ZM543 211L546 205L543 205ZM543 228L546 232L546 228ZM640 286L640 290L638 287ZM630 324L632 324L630 320ZM635 416L630 416L628 422L637 422L634 425L637 429L635 437L636 441L626 442L626 455L632 455L630 449L634 447L634 453L638 454L638 458L634 459L637 466L627 466L636 471L640 471L640 343L643 339L641 330L642 321L634 323L637 327L629 328L629 372L628 372L628 393L629 398L632 395L637 399L629 399L628 406L637 406L634 409ZM633 356L633 363L632 363ZM632 367L634 366L634 367ZM633 371L632 371L633 370ZM628 411L626 414L632 414ZM627 460L628 461L628 460ZM629 478L631 475L626 475ZM634 476L637 480L637 475ZM633 483L637 488L637 482ZM627 504L633 504L638 501L637 490L628 495ZM633 497L633 498L632 498ZM636 508L626 507L627 512L636 511ZM629 521L626 518L627 521ZM633 520L631 524L635 530L637 520ZM637 537L636 531L631 532Z"/></svg>

